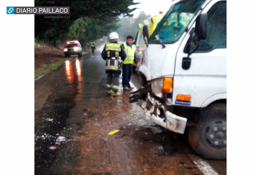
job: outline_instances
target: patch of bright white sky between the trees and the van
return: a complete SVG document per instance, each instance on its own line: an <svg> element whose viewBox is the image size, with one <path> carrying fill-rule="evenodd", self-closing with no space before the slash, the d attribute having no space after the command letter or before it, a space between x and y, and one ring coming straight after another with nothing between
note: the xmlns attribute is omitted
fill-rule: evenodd
<svg viewBox="0 0 256 175"><path fill-rule="evenodd" d="M129 8L139 8L132 12L134 18L137 18L141 11L146 14L156 15L160 11L164 14L170 9L172 0L134 0L133 2L141 2L140 4L130 6Z"/></svg>

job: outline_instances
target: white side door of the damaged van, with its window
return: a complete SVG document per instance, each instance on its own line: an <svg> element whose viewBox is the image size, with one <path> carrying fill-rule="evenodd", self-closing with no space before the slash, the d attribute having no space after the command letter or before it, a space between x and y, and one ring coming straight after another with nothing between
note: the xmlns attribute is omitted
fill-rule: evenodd
<svg viewBox="0 0 256 175"><path fill-rule="evenodd" d="M213 0L202 10L207 13L207 37L200 41L196 52L190 56L191 66L182 68L183 58L188 56L195 37L190 38L190 31L195 27L195 21L184 37L177 51L175 75L173 82L173 105L205 107L207 99L226 95L226 50L227 50L227 2ZM178 94L191 95L190 101L177 100Z"/></svg>

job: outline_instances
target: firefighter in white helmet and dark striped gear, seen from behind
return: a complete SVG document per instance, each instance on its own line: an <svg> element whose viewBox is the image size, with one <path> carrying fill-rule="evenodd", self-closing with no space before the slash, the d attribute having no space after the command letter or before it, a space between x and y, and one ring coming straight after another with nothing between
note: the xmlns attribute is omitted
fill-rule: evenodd
<svg viewBox="0 0 256 175"><path fill-rule="evenodd" d="M124 48L117 43L119 36L116 32L109 35L109 42L104 46L101 56L106 60L107 73L107 93L111 94L114 91L114 96L119 96L119 76L121 74L121 60L126 57ZM121 60L120 60L121 57Z"/></svg>

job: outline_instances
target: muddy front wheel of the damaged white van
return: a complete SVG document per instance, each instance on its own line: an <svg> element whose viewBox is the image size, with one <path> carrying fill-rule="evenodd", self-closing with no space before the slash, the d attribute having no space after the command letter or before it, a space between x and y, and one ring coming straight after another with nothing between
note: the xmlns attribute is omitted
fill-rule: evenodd
<svg viewBox="0 0 256 175"><path fill-rule="evenodd" d="M209 105L200 113L198 125L190 127L188 141L206 159L227 159L227 104Z"/></svg>

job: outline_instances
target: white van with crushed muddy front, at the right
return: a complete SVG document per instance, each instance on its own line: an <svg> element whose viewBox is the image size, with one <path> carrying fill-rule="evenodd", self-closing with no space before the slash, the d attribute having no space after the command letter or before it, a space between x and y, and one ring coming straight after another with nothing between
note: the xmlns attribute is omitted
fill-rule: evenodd
<svg viewBox="0 0 256 175"><path fill-rule="evenodd" d="M182 0L172 5L144 48L139 100L146 117L188 135L202 157L227 153L227 2Z"/></svg>

